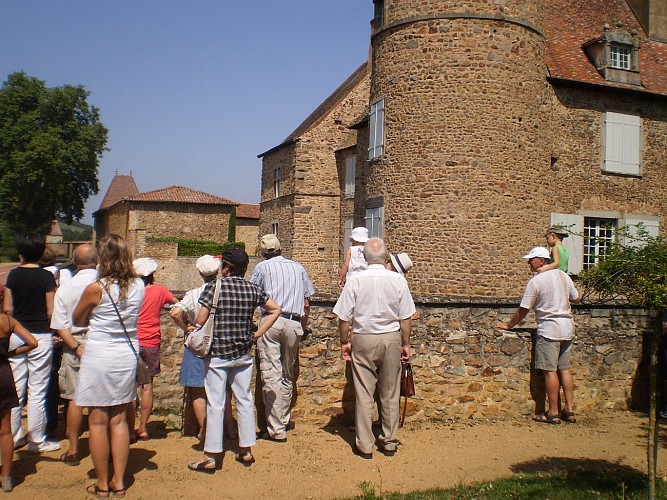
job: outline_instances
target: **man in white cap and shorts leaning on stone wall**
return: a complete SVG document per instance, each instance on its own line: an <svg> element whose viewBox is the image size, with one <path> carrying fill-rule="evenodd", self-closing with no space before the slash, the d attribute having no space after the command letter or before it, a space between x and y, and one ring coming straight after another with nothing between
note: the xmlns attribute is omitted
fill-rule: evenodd
<svg viewBox="0 0 667 500"><path fill-rule="evenodd" d="M537 273L542 266L549 263L549 251L544 247L535 247L523 258L528 260L530 270ZM570 277L559 269L551 269L533 276L514 315L509 321L496 324L497 328L511 330L521 323L531 309L535 311L535 369L544 374L549 398L549 410L535 415L533 420L536 422L575 422L572 406L574 381L570 373L574 320L570 302L579 300L579 293ZM558 403L561 387L565 395L562 412Z"/></svg>

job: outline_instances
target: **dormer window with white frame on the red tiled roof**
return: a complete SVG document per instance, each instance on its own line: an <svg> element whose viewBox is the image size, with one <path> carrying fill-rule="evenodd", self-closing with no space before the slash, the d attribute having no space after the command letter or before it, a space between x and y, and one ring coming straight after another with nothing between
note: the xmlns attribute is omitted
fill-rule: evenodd
<svg viewBox="0 0 667 500"><path fill-rule="evenodd" d="M641 85L637 32L610 31L609 25L604 29L604 35L583 45L588 59L608 82Z"/></svg>

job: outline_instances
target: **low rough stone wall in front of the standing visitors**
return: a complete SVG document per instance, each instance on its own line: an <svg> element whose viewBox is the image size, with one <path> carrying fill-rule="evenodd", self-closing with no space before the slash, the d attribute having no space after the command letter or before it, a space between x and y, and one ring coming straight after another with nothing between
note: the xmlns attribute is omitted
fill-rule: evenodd
<svg viewBox="0 0 667 500"><path fill-rule="evenodd" d="M333 301L313 301L311 338L302 342L297 419L351 422L354 391L349 366L340 358ZM544 407L541 377L531 370L532 313L511 332L493 327L515 306L422 304L413 318L412 364L417 394L408 419L449 420L528 415ZM587 413L624 409L646 401L646 380L638 369L651 319L636 309L578 306L572 373L575 406ZM162 374L156 407L177 413L183 390L178 369L183 337L163 315Z"/></svg>

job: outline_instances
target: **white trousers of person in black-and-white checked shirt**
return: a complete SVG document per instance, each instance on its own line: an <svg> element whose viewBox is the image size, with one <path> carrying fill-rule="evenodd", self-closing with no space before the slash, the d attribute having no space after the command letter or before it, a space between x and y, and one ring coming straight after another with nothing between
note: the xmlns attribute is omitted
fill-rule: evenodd
<svg viewBox="0 0 667 500"><path fill-rule="evenodd" d="M227 384L231 385L236 401L239 425L239 446L248 448L256 443L255 408L250 382L253 360L249 355L237 359L207 357L204 359L206 389L206 453L221 453L224 449L223 429Z"/></svg>

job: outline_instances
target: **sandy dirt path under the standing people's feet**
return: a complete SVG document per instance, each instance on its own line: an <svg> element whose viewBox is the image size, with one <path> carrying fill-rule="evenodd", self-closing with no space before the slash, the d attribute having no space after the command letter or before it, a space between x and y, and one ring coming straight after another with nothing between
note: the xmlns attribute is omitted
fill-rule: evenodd
<svg viewBox="0 0 667 500"><path fill-rule="evenodd" d="M611 474L627 467L644 472L647 425L642 415L612 411L560 426L528 420L408 423L393 458L375 453L372 460L363 460L351 452L354 435L349 430L297 422L287 443L259 441L253 449L257 463L251 468L236 463L227 451L223 469L205 475L186 468L199 456L193 449L197 440L151 422L155 438L130 451L128 497L320 499L358 495L363 481L388 492L582 464L605 467ZM667 450L665 440L661 442L660 470L665 474ZM87 434L83 444L86 449ZM84 498L84 487L93 477L90 457L78 467L68 467L58 456L59 452L35 456L20 450L14 462L14 498Z"/></svg>

